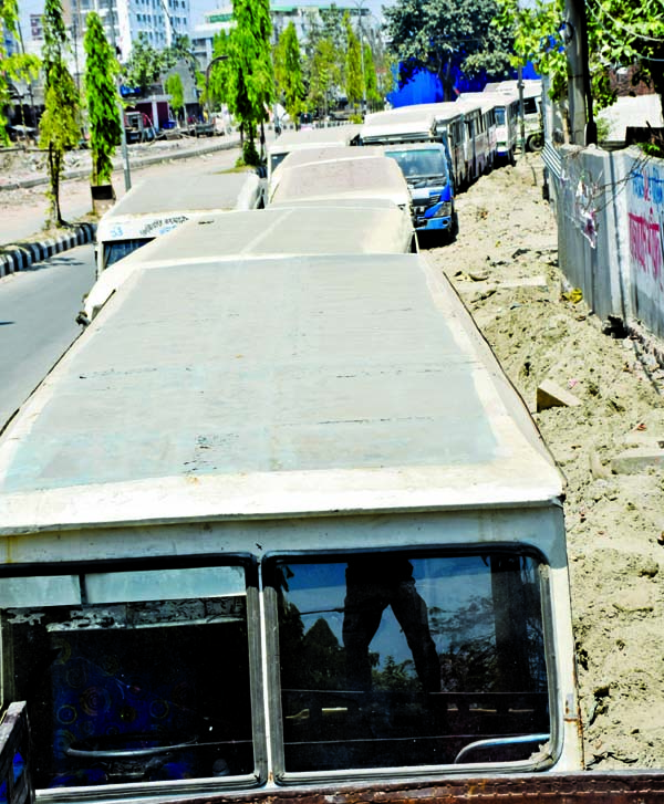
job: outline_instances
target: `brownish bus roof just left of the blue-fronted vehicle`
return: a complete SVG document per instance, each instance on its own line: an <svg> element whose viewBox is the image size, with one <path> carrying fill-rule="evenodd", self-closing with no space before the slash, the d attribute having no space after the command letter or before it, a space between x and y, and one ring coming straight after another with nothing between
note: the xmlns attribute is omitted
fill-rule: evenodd
<svg viewBox="0 0 664 804"><path fill-rule="evenodd" d="M386 156L325 161L283 168L270 189L269 203L288 206L293 201L335 201L384 198L398 207L411 202L408 186L394 159Z"/></svg>

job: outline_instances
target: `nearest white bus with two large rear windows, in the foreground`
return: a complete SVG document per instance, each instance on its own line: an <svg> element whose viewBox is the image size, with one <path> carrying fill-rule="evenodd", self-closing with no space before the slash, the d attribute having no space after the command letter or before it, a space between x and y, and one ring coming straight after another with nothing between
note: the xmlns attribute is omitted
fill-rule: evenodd
<svg viewBox="0 0 664 804"><path fill-rule="evenodd" d="M0 437L0 689L37 801L560 784L562 492L422 255L137 271Z"/></svg>

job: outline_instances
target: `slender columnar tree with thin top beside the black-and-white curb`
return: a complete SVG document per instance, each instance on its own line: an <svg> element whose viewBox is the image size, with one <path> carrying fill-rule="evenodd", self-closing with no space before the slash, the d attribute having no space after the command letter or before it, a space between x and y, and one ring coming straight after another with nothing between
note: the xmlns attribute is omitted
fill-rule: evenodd
<svg viewBox="0 0 664 804"><path fill-rule="evenodd" d="M76 84L66 69L66 29L60 0L46 0L43 14L45 111L41 118L40 148L48 150L50 188L49 215L55 226L64 226L60 209L60 180L64 154L77 145L80 98Z"/></svg>

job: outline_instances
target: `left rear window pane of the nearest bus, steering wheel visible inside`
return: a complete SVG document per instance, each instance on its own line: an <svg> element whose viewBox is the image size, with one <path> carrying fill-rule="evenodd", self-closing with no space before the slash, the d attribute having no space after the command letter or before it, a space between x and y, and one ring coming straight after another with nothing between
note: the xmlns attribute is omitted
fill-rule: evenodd
<svg viewBox="0 0 664 804"><path fill-rule="evenodd" d="M37 787L253 772L243 573L3 579L4 688L29 704Z"/></svg>

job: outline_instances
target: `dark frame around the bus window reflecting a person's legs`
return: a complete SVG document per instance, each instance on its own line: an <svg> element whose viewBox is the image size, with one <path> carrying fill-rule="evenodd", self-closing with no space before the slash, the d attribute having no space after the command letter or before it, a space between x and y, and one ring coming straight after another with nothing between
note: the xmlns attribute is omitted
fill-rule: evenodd
<svg viewBox="0 0 664 804"><path fill-rule="evenodd" d="M544 652L544 662L547 667L547 692L549 706L549 744L551 746L550 756L537 762L530 760L511 761L511 762L494 762L494 763L473 763L468 764L439 764L439 765L407 765L400 768L366 768L366 769L344 769L334 771L287 771L284 759L284 734L283 734L283 710L281 704L281 679L279 662L279 613L278 613L278 593L271 584L276 577L273 567L277 562L288 562L291 564L311 564L311 563L340 563L351 556L366 555L373 553L393 554L405 558L436 558L436 557L455 557L470 555L486 555L490 553L506 554L532 558L537 563L537 572L539 577L540 593L540 610L542 618L542 643ZM554 648L554 608L551 598L551 587L549 578L550 565L541 551L532 545L513 542L492 542L490 544L471 544L471 545L422 545L422 546L398 546L384 547L376 546L373 550L328 550L328 551L271 551L263 555L261 560L261 587L264 599L264 629L266 629L266 656L269 658L267 662L267 707L268 719L270 721L270 755L272 758L272 770L274 782L284 787L292 787L302 784L325 783L325 782L356 782L370 780L392 780L392 779L417 779L439 775L440 773L450 775L467 775L471 773L497 773L497 772L533 772L550 769L562 754L562 713L558 701L557 692L559 689Z"/></svg>

